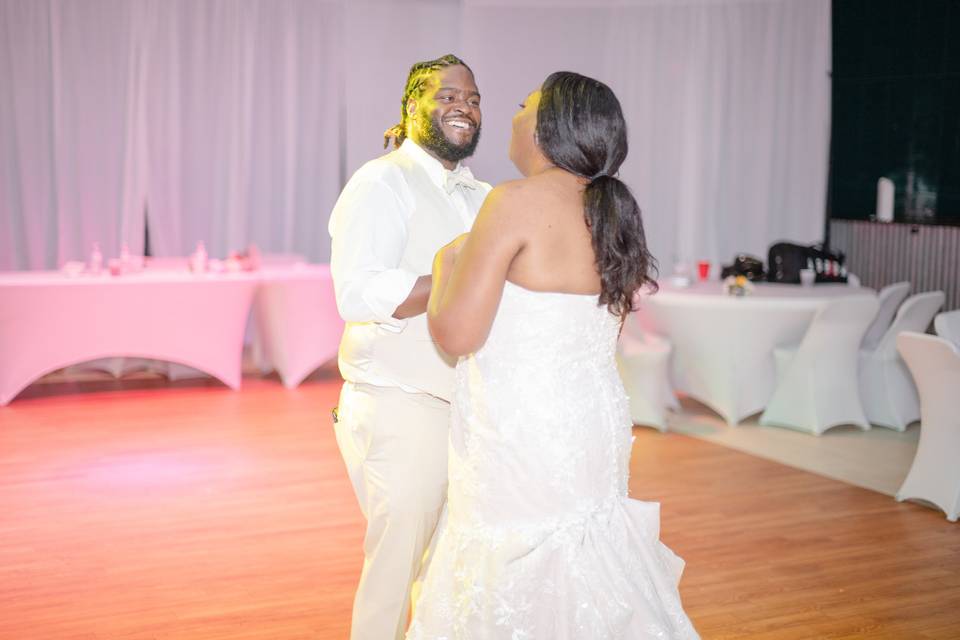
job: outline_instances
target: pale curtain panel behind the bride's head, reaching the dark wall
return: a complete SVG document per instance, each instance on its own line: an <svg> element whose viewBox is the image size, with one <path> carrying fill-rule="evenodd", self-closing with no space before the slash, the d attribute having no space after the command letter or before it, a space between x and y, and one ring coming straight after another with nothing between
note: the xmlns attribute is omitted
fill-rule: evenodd
<svg viewBox="0 0 960 640"><path fill-rule="evenodd" d="M550 72L577 71L623 105L621 177L663 274L822 239L829 0L465 4L464 56L484 93L478 176L516 175L505 163L516 104Z"/></svg>

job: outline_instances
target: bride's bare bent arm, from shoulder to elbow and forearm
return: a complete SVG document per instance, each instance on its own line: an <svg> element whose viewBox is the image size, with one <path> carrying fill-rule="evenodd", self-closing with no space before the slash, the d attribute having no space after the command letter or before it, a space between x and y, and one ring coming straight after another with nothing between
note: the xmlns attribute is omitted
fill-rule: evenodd
<svg viewBox="0 0 960 640"><path fill-rule="evenodd" d="M487 339L510 264L524 246L517 215L522 192L518 183L496 187L466 239L454 240L434 259L427 321L433 339L450 355L473 353Z"/></svg>

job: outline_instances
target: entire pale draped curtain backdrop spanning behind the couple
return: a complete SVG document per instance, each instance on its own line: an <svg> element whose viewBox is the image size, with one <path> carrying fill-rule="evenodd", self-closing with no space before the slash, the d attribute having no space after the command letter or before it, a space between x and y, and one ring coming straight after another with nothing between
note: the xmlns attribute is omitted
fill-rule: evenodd
<svg viewBox="0 0 960 640"><path fill-rule="evenodd" d="M622 177L670 273L822 237L830 0L0 0L0 269L99 241L329 257L343 181L382 153L409 66L483 93L478 177L516 177L516 104L558 69L613 87Z"/></svg>

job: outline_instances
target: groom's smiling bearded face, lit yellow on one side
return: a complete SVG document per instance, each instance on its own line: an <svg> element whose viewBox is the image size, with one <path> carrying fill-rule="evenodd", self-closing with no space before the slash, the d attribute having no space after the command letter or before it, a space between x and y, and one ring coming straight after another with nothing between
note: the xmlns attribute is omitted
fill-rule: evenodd
<svg viewBox="0 0 960 640"><path fill-rule="evenodd" d="M453 65L430 74L407 111L410 137L439 160L456 163L473 155L480 140L480 91L469 69Z"/></svg>

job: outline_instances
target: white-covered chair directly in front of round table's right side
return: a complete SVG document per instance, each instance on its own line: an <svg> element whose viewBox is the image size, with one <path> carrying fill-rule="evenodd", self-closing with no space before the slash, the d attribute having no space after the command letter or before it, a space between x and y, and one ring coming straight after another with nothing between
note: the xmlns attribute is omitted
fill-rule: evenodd
<svg viewBox="0 0 960 640"><path fill-rule="evenodd" d="M760 424L815 435L841 424L869 429L857 392L857 353L878 306L871 297L831 302L798 347L775 350L777 388Z"/></svg>

